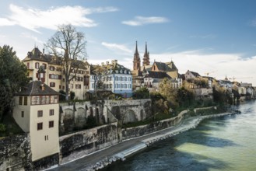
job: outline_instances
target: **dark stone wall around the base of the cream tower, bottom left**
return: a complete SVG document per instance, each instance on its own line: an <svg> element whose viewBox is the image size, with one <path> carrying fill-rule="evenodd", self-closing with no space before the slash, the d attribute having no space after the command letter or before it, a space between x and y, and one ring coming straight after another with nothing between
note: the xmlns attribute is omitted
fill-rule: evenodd
<svg viewBox="0 0 256 171"><path fill-rule="evenodd" d="M0 138L0 170L40 170L54 165L58 165L58 154L32 162L29 134Z"/></svg>

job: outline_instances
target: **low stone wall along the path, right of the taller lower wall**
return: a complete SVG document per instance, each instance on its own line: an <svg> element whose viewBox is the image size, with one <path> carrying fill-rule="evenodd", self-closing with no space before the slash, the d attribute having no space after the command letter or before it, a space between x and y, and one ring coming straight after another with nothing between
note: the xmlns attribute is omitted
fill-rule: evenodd
<svg viewBox="0 0 256 171"><path fill-rule="evenodd" d="M146 124L139 127L124 128L121 130L121 140L124 141L130 138L136 138L145 134L152 133L154 131L160 131L164 128L175 126L181 123L181 120L184 118L189 117L187 113L188 110L184 110L179 113L177 117L173 117L167 120L160 120L152 124Z"/></svg>

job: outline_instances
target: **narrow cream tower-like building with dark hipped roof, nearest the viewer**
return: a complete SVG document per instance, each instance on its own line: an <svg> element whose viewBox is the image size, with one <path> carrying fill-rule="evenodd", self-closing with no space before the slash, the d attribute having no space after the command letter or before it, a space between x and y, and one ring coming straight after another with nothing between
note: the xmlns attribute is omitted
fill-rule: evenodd
<svg viewBox="0 0 256 171"><path fill-rule="evenodd" d="M13 117L30 134L32 161L59 153L59 93L40 81L15 96Z"/></svg>

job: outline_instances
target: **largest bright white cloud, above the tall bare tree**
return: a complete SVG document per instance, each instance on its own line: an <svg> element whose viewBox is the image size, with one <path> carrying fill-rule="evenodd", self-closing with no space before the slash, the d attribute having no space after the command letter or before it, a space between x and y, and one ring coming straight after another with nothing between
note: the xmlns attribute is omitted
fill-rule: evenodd
<svg viewBox="0 0 256 171"><path fill-rule="evenodd" d="M47 10L23 9L17 5L9 5L12 12L6 18L0 18L0 26L22 26L39 33L38 28L56 30L58 25L72 24L73 26L97 26L93 19L86 16L98 12L114 12L114 7L86 9L82 6L61 6ZM71 15L72 14L72 15Z"/></svg>

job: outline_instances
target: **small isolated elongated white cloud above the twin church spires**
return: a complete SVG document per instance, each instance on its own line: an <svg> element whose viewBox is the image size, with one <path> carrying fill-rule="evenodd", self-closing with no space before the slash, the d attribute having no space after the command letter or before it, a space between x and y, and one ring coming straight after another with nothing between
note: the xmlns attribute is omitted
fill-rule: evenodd
<svg viewBox="0 0 256 171"><path fill-rule="evenodd" d="M145 24L153 24L153 23L167 23L169 20L165 17L160 16L135 16L135 19L123 21L123 24L128 26L142 26Z"/></svg>

